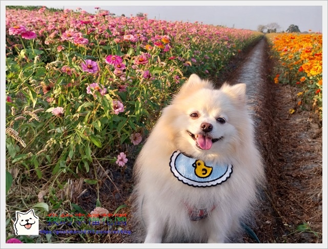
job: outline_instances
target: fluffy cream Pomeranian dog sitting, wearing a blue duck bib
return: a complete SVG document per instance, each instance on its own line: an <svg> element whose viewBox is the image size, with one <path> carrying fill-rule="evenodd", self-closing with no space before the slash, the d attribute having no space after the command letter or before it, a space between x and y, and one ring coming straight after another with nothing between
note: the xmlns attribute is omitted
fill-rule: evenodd
<svg viewBox="0 0 328 249"><path fill-rule="evenodd" d="M264 181L246 85L190 76L164 108L135 163L145 243L229 242Z"/></svg>

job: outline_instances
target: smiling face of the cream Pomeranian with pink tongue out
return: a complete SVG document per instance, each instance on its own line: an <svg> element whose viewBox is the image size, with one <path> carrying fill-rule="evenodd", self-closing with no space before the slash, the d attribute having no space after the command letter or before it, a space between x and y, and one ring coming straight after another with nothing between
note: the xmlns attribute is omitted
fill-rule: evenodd
<svg viewBox="0 0 328 249"><path fill-rule="evenodd" d="M246 112L244 84L215 90L192 75L163 115L172 121L177 149L201 157L232 152Z"/></svg>

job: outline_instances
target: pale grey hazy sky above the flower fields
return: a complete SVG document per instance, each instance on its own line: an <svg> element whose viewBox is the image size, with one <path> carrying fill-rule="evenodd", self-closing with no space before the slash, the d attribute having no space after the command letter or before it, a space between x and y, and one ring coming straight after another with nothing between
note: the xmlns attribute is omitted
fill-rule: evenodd
<svg viewBox="0 0 328 249"><path fill-rule="evenodd" d="M41 2L44 2L44 5L46 5L47 7L54 7L60 9L65 8L76 10L77 7L80 7L88 11L89 13L95 13L96 9L94 7L100 7L101 9L109 10L111 13L115 13L116 15L125 14L126 16L130 16L130 14L136 15L138 12L142 12L147 13L148 18L152 19L156 18L171 21L177 20L183 22L198 21L203 22L204 24L224 25L227 27L235 27L238 29L257 30L258 25L277 23L281 27L280 30L286 30L291 24L294 24L299 27L301 32L308 31L309 29L314 32L322 32L322 6L311 6L316 4L318 5L320 1ZM325 1L321 1L321 5L322 2ZM202 5L191 6L195 4ZM265 4L267 4L267 6L259 6Z"/></svg>

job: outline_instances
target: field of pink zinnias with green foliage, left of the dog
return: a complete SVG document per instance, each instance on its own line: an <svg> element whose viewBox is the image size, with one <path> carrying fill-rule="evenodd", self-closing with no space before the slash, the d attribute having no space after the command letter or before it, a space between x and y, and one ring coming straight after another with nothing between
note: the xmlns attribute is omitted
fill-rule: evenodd
<svg viewBox="0 0 328 249"><path fill-rule="evenodd" d="M24 207L64 209L72 195L54 193L69 178L98 184L95 164L124 171L190 74L219 77L261 37L147 15L7 9L6 193L24 175L27 187L38 182L48 196Z"/></svg>

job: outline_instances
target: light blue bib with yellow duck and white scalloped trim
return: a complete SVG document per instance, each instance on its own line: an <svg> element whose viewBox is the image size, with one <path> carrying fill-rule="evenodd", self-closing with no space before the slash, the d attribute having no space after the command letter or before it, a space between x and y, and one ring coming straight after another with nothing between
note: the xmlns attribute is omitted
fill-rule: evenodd
<svg viewBox="0 0 328 249"><path fill-rule="evenodd" d="M180 151L173 152L170 167L179 181L196 187L216 186L227 181L232 174L232 164L211 165L185 156Z"/></svg>

